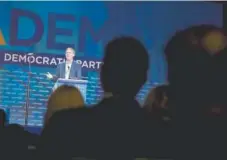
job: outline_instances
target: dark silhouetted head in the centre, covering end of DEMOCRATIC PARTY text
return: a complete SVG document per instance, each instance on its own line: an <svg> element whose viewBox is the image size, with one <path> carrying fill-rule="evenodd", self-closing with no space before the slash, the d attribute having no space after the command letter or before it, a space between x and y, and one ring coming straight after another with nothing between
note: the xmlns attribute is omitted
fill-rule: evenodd
<svg viewBox="0 0 227 160"><path fill-rule="evenodd" d="M101 83L105 92L135 96L147 80L148 52L132 37L110 41L105 48L101 67Z"/></svg>

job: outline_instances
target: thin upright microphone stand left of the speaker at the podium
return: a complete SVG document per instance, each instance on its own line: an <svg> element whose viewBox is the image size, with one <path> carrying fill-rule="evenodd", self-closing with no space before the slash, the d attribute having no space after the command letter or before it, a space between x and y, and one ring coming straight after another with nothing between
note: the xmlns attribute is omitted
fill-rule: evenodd
<svg viewBox="0 0 227 160"><path fill-rule="evenodd" d="M28 56L32 56L33 53L28 53ZM25 105L25 126L28 125L28 109L30 106L30 80L31 80L31 62L28 57L28 81L26 88L26 105Z"/></svg>

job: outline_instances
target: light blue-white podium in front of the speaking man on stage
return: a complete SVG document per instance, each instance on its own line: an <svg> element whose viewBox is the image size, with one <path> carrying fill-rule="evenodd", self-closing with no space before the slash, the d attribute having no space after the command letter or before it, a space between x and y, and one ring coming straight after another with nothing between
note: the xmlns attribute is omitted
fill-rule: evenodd
<svg viewBox="0 0 227 160"><path fill-rule="evenodd" d="M84 101L86 102L87 80L58 78L57 82L54 84L52 91L54 91L61 85L68 85L78 88L84 98Z"/></svg>

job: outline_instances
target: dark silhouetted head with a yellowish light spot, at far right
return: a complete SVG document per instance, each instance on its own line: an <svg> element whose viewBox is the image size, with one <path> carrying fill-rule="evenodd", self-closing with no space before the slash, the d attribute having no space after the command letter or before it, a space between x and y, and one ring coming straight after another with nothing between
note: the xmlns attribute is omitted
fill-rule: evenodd
<svg viewBox="0 0 227 160"><path fill-rule="evenodd" d="M206 83L214 70L214 57L224 50L226 37L212 25L199 25L177 32L167 43L170 84ZM213 72L214 73L214 72Z"/></svg>

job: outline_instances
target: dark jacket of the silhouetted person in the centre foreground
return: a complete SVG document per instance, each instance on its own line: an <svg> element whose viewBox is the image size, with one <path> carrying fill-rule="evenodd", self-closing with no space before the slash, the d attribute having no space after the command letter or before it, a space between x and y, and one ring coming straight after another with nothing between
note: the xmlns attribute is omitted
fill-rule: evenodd
<svg viewBox="0 0 227 160"><path fill-rule="evenodd" d="M104 99L93 108L55 113L43 130L38 150L41 155L62 159L143 157L151 136L146 122L135 100Z"/></svg>

